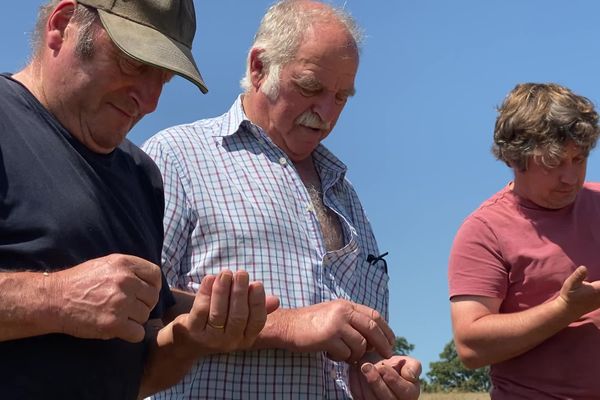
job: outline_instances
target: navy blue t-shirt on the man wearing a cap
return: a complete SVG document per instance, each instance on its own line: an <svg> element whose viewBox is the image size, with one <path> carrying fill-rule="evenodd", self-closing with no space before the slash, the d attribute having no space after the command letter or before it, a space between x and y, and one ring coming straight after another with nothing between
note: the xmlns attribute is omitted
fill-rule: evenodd
<svg viewBox="0 0 600 400"><path fill-rule="evenodd" d="M89 151L0 75L0 269L51 271L112 253L160 265L163 206L160 172L138 147ZM151 318L172 304L163 277ZM0 398L134 399L145 355L143 343L118 339L0 342Z"/></svg>

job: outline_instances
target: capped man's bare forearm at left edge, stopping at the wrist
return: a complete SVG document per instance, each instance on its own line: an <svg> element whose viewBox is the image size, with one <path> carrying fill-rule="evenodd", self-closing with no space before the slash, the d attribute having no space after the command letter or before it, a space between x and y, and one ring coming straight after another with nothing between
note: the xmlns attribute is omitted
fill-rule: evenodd
<svg viewBox="0 0 600 400"><path fill-rule="evenodd" d="M51 275L0 272L0 341L59 331Z"/></svg>

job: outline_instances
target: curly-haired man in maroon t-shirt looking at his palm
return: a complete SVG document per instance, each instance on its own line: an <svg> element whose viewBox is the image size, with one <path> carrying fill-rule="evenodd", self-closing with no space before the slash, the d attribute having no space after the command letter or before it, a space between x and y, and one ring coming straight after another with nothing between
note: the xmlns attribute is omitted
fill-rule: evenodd
<svg viewBox="0 0 600 400"><path fill-rule="evenodd" d="M459 229L449 262L456 349L491 365L492 399L600 399L600 184L584 183L593 104L521 84L493 151L514 181Z"/></svg>

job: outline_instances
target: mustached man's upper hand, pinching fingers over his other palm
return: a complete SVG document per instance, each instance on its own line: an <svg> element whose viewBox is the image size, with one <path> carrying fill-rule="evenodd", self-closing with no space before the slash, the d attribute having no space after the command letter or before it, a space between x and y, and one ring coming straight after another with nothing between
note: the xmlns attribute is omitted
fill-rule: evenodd
<svg viewBox="0 0 600 400"><path fill-rule="evenodd" d="M275 311L269 315L256 348L323 351L334 361L354 362L371 350L391 357L394 340L394 332L377 311L351 301L333 300Z"/></svg>

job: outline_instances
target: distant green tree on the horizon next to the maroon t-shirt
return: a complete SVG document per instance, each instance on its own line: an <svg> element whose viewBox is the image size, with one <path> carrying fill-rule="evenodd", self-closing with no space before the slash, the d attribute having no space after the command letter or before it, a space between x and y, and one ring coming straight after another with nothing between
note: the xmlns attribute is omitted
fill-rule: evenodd
<svg viewBox="0 0 600 400"><path fill-rule="evenodd" d="M469 370L465 368L454 341L450 340L440 353L440 361L429 364L429 382L423 385L428 392L488 392L491 387L489 367Z"/></svg>

